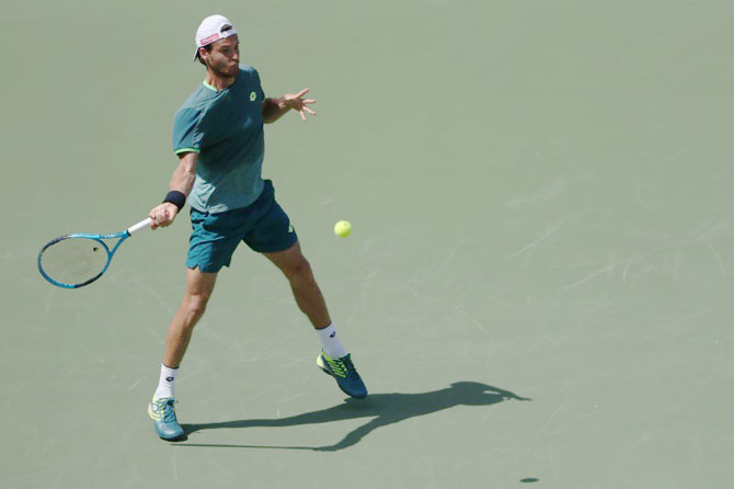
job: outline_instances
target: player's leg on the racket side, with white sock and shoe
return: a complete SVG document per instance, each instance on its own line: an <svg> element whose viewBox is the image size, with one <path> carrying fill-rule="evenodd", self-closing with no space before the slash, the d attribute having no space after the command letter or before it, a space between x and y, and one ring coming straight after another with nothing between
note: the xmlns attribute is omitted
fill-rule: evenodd
<svg viewBox="0 0 734 489"><path fill-rule="evenodd" d="M173 403L173 383L186 348L194 332L194 327L204 316L206 304L214 292L216 273L200 272L198 269L186 269L186 292L165 336L165 350L158 389L148 407L153 420L156 433L164 440L175 440L184 432L176 420Z"/></svg>

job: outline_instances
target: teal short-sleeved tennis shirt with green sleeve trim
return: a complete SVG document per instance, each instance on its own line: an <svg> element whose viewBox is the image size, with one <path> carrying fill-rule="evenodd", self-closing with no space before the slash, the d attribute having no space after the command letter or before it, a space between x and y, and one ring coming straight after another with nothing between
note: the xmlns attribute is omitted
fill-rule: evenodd
<svg viewBox="0 0 734 489"><path fill-rule="evenodd" d="M240 65L234 83L194 90L173 121L173 151L198 153L188 203L210 214L246 207L263 191L265 156L260 76Z"/></svg>

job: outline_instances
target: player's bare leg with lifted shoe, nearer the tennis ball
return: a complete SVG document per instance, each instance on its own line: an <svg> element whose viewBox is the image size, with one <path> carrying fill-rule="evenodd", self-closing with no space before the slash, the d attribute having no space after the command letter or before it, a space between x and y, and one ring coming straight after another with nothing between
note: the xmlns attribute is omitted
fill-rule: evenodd
<svg viewBox="0 0 734 489"><path fill-rule="evenodd" d="M326 303L313 278L311 265L301 253L300 244L296 242L285 251L264 254L286 275L298 307L317 330L323 346L317 359L319 368L334 377L345 394L356 398L366 397L367 388L354 367L351 355L336 338Z"/></svg>

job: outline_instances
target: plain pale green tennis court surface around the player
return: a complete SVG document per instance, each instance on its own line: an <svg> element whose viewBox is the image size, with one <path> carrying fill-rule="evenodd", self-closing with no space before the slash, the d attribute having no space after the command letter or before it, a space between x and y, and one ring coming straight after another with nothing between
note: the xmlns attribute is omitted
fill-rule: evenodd
<svg viewBox="0 0 734 489"><path fill-rule="evenodd" d="M264 177L370 397L241 247L168 443L146 407L186 216L78 291L35 261L162 200L210 13L266 94L318 100L266 128ZM3 3L0 487L732 487L733 24L723 0Z"/></svg>

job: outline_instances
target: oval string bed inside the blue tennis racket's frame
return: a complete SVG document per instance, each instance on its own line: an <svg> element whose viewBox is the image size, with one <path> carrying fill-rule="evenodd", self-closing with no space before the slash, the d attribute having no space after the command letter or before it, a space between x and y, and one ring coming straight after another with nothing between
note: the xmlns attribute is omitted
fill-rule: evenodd
<svg viewBox="0 0 734 489"><path fill-rule="evenodd" d="M107 249L89 238L67 238L46 248L41 268L54 281L79 285L100 275L107 264Z"/></svg>

